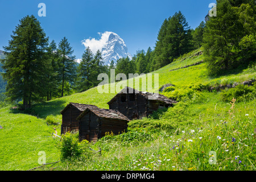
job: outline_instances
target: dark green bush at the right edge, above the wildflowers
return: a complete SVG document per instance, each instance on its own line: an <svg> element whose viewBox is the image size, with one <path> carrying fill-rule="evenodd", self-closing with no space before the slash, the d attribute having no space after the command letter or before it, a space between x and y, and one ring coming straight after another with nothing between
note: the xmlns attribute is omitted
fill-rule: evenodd
<svg viewBox="0 0 256 182"><path fill-rule="evenodd" d="M231 101L236 98L237 102L250 100L256 95L256 84L254 86L237 85L235 88L225 89L221 91L221 100L225 102Z"/></svg>

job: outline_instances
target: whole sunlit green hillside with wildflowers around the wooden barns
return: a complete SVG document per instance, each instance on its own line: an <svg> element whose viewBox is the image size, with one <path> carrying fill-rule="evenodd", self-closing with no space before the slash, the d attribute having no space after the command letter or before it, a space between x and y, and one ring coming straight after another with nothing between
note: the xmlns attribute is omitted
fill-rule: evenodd
<svg viewBox="0 0 256 182"><path fill-rule="evenodd" d="M233 102L232 107L231 100L221 100L217 87L255 79L256 72L241 66L222 76L209 77L203 62L204 55L200 51L187 53L152 72L159 74L159 88L165 84L174 85L174 90L164 90L166 92L162 94L175 97L179 101L177 105L158 111L151 118L131 121L126 134L110 134L99 140L91 147L95 150L101 147L102 156L93 155L82 162L58 163L56 169L255 170L254 96L245 97L242 102ZM212 87L216 89L207 92ZM147 91L155 92L159 88ZM0 151L3 151L0 154L0 169L27 170L40 166L39 151L46 151L47 163L59 160L60 151L56 148L59 139L51 134L54 131L52 127L56 127L60 134L60 124L47 125L46 117L52 115L55 121L61 123L60 111L69 102L108 109L106 103L114 95L100 94L97 88L92 88L38 104L30 110L38 118L10 107L0 109L0 125L3 127L0 130ZM217 152L217 165L208 163L210 151Z"/></svg>

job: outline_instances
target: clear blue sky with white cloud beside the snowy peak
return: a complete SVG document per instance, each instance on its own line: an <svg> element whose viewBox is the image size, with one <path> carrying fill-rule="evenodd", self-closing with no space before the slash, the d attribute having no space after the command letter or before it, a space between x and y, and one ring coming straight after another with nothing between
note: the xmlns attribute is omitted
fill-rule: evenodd
<svg viewBox="0 0 256 182"><path fill-rule="evenodd" d="M38 15L39 3L46 5L46 16ZM101 48L108 32L118 34L134 55L154 49L164 19L177 11L195 29L204 21L210 3L216 0L0 0L0 50L8 46L19 20L34 15L50 42L68 39L76 59L81 58L86 40L90 42L86 45Z"/></svg>

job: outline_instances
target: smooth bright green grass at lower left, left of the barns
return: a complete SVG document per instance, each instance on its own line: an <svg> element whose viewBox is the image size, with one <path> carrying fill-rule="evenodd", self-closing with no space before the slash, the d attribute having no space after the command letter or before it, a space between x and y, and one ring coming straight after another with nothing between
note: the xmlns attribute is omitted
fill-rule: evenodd
<svg viewBox="0 0 256 182"><path fill-rule="evenodd" d="M24 170L38 166L38 152L45 151L47 163L59 159L59 142L44 119L0 109L0 170Z"/></svg>

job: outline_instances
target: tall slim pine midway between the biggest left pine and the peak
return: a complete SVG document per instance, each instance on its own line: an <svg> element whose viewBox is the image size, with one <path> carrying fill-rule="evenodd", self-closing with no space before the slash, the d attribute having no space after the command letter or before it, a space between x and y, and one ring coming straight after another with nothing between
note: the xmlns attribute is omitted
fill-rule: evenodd
<svg viewBox="0 0 256 182"><path fill-rule="evenodd" d="M74 84L76 78L76 62L75 56L72 55L74 51L68 43L67 38L64 37L61 39L57 52L60 55L59 76L61 77L61 97L63 97L65 89L69 89ZM69 86L64 86L65 81L69 82Z"/></svg>

